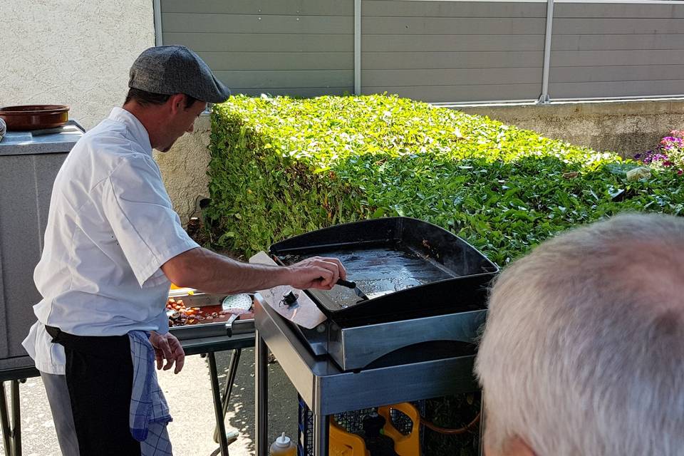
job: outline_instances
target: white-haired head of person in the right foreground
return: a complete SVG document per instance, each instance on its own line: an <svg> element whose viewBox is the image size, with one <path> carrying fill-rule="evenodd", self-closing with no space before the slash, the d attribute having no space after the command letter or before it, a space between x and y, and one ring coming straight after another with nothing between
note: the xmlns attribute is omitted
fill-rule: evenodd
<svg viewBox="0 0 684 456"><path fill-rule="evenodd" d="M684 219L561 234L499 276L477 356L487 455L681 455Z"/></svg>

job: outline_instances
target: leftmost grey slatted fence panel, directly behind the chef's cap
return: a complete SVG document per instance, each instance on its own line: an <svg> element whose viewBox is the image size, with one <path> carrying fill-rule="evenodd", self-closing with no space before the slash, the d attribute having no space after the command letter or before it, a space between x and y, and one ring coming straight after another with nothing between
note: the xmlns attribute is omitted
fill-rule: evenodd
<svg viewBox="0 0 684 456"><path fill-rule="evenodd" d="M353 1L161 0L164 44L199 53L232 93L353 91Z"/></svg>

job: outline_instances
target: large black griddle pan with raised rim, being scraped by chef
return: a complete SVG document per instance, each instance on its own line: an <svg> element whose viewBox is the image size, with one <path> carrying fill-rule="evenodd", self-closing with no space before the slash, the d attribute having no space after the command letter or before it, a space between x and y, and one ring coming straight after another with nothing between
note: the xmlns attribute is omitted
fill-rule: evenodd
<svg viewBox="0 0 684 456"><path fill-rule="evenodd" d="M353 289L306 290L341 326L486 309L487 285L499 268L452 232L409 217L341 224L271 246L279 264L336 257Z"/></svg>

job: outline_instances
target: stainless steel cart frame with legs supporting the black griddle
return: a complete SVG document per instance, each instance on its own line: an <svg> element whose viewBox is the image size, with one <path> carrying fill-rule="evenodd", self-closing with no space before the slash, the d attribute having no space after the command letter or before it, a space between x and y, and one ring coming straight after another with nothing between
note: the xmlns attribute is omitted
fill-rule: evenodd
<svg viewBox="0 0 684 456"><path fill-rule="evenodd" d="M473 375L475 356L342 371L329 358L314 356L296 336L290 323L271 309L261 296L257 294L255 301L257 456L267 456L269 451L269 351L314 413L314 456L328 456L330 415L479 390Z"/></svg>

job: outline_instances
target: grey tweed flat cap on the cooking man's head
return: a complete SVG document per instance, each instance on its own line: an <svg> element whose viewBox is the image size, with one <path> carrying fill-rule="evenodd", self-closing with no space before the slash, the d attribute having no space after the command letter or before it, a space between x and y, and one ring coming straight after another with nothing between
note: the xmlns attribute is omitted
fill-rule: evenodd
<svg viewBox="0 0 684 456"><path fill-rule="evenodd" d="M207 63L185 46L145 49L130 67L128 87L173 95L185 93L197 100L222 103L230 89L219 81Z"/></svg>

